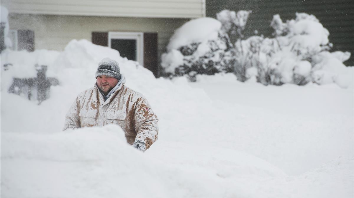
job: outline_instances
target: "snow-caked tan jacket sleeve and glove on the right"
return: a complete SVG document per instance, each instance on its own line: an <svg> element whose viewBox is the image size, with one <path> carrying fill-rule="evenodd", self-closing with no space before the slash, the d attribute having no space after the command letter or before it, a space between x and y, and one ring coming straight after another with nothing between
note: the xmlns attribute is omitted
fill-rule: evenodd
<svg viewBox="0 0 354 198"><path fill-rule="evenodd" d="M159 119L152 111L148 101L141 95L135 103L134 115L135 131L137 135L133 145L142 144L143 149L148 149L158 139Z"/></svg>

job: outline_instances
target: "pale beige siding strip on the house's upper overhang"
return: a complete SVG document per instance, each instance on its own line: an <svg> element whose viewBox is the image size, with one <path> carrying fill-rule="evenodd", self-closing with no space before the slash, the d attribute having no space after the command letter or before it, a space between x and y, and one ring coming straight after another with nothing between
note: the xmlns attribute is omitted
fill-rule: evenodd
<svg viewBox="0 0 354 198"><path fill-rule="evenodd" d="M74 16L198 18L205 0L1 0L10 13Z"/></svg>

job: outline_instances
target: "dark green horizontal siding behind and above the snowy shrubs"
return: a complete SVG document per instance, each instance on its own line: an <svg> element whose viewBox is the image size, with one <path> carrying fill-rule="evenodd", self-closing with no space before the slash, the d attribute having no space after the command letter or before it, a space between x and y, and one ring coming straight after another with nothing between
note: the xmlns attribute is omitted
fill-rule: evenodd
<svg viewBox="0 0 354 198"><path fill-rule="evenodd" d="M244 31L245 38L254 35L272 35L269 26L274 14L283 21L294 19L296 12L313 14L330 32L331 51L349 51L344 64L354 66L354 0L206 0L206 16L216 18L222 10L252 10Z"/></svg>

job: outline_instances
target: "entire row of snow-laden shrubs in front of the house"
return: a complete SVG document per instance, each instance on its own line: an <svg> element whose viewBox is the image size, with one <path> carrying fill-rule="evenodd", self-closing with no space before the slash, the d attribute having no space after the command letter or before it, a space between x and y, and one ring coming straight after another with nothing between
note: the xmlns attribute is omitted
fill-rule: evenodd
<svg viewBox="0 0 354 198"><path fill-rule="evenodd" d="M233 72L239 81L264 85L349 85L352 77L343 62L350 52L329 52L329 31L315 16L296 13L295 19L283 22L276 14L270 23L272 38L242 39L251 13L223 10L217 14L218 20L199 18L182 25L161 56L165 75L187 75L195 80L196 74ZM237 36L237 41L230 42L230 36Z"/></svg>

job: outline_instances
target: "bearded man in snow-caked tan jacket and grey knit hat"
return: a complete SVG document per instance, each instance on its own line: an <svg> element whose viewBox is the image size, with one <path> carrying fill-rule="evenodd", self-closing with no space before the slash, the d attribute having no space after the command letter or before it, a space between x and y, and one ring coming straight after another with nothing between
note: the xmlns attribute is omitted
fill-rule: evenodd
<svg viewBox="0 0 354 198"><path fill-rule="evenodd" d="M118 62L103 58L96 84L78 95L65 116L63 130L118 124L129 144L141 151L148 149L158 139L159 119L144 96L124 83Z"/></svg>

